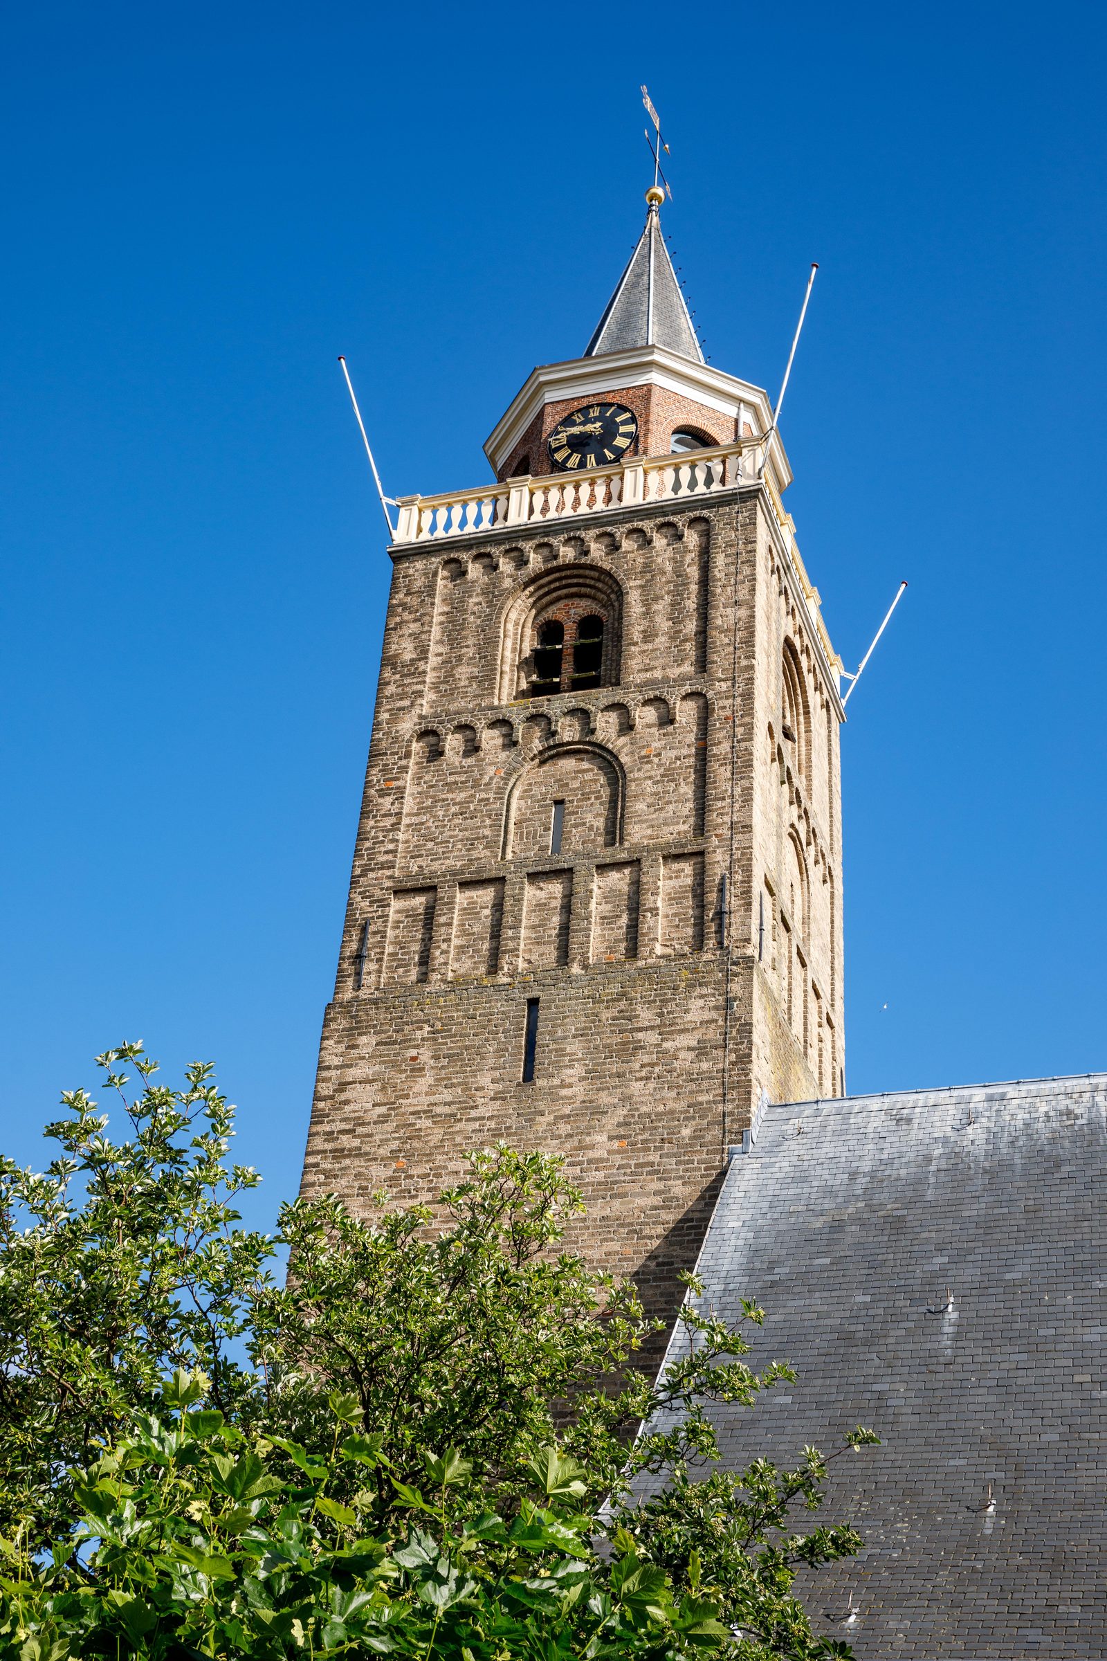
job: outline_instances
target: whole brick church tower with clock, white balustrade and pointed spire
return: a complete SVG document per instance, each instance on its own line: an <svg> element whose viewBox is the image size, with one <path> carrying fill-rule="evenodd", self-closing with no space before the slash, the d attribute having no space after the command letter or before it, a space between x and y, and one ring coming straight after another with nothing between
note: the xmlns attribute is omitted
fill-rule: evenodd
<svg viewBox="0 0 1107 1661"><path fill-rule="evenodd" d="M765 1101L843 1093L840 661L765 392L704 360L661 193L495 483L400 503L304 1193L564 1153L671 1314Z"/></svg>

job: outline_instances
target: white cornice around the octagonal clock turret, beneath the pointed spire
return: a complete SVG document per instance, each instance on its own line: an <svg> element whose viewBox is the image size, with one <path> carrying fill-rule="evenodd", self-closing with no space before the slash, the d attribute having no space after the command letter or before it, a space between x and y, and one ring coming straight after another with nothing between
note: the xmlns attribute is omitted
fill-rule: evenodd
<svg viewBox="0 0 1107 1661"><path fill-rule="evenodd" d="M755 417L755 434L765 432L772 422L772 404L762 387L739 380L737 375L727 375L710 364L697 364L679 352L669 352L664 345L636 345L629 352L571 357L564 364L539 364L538 369L533 369L485 443L485 455L491 462L493 472L500 473L543 405L558 404L563 399L588 399L597 392L614 392L619 387L642 385L679 392L732 420L737 420L745 407ZM792 483L792 468L775 434L770 453L783 490L785 485Z"/></svg>

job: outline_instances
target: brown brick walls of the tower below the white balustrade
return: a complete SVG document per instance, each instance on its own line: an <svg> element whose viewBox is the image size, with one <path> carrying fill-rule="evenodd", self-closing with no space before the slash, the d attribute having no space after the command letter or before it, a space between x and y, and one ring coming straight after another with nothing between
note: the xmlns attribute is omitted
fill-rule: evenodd
<svg viewBox="0 0 1107 1661"><path fill-rule="evenodd" d="M767 512L745 488L395 550L305 1194L430 1199L471 1148L561 1151L589 1204L573 1242L671 1314L758 1095L823 1090L836 723ZM609 684L519 698L533 618L578 593ZM778 736L787 639L802 777Z"/></svg>

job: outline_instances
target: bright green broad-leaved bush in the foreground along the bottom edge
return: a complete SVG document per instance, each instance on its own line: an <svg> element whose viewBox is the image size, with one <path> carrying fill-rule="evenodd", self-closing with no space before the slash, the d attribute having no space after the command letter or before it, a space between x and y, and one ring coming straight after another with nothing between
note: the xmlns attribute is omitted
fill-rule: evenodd
<svg viewBox="0 0 1107 1661"><path fill-rule="evenodd" d="M471 1507L453 1520L470 1465L453 1448L427 1453L428 1498L412 1520L382 1438L350 1428L352 1397L330 1404L327 1457L282 1443L290 1480L274 1473L271 1442L198 1407L204 1387L178 1372L158 1414L136 1414L75 1483L78 1556L68 1540L45 1563L8 1548L7 1653L675 1661L727 1641L714 1605L679 1593L629 1538L597 1550L583 1472L554 1447L533 1458L511 1520ZM340 1503L327 1490L347 1468L357 1492Z"/></svg>

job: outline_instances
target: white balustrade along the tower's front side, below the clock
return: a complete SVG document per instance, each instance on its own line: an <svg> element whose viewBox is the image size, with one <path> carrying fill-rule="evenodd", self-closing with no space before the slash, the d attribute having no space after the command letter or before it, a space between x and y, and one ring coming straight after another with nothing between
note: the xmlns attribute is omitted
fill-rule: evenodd
<svg viewBox="0 0 1107 1661"><path fill-rule="evenodd" d="M458 490L440 497L405 497L400 502L397 543L441 541L471 537L500 525L578 518L624 502L669 502L710 495L739 483L753 483L762 460L755 442L727 443L717 450L644 457L616 467L589 467L553 478L518 478L510 485Z"/></svg>

